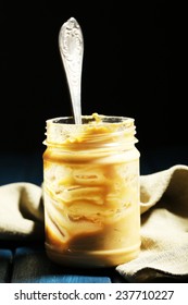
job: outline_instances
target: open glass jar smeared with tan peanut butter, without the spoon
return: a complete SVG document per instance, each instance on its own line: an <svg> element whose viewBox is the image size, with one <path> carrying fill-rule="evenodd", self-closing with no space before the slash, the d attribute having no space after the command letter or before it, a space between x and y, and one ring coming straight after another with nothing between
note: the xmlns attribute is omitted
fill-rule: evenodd
<svg viewBox="0 0 188 305"><path fill-rule="evenodd" d="M140 251L139 157L133 118L47 120L46 251L53 261L110 267Z"/></svg>

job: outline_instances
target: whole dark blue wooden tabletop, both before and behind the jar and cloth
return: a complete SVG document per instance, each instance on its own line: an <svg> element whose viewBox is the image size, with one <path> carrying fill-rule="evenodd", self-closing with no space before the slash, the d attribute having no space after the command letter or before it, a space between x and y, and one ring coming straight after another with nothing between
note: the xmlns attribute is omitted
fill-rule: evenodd
<svg viewBox="0 0 188 305"><path fill-rule="evenodd" d="M141 152L140 173L148 174L174 164L188 164L188 146L161 147ZM41 151L1 152L0 185L30 182L41 185ZM187 279L186 279L187 281ZM0 240L0 283L117 283L127 282L115 268L75 269L52 263L40 242Z"/></svg>

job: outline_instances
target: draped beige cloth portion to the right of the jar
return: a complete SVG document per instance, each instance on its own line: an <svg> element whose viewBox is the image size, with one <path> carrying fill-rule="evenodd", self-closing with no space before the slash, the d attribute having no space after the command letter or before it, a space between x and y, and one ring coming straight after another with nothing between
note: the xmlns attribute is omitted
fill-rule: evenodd
<svg viewBox="0 0 188 305"><path fill-rule="evenodd" d="M141 252L116 267L133 282L188 277L188 167L140 176Z"/></svg>

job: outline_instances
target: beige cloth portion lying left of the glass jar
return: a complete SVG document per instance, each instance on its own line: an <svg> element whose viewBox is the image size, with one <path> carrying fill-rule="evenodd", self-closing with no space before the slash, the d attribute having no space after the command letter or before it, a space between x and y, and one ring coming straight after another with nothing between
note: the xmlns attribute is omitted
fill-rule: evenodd
<svg viewBox="0 0 188 305"><path fill-rule="evenodd" d="M0 186L0 240L43 239L41 187L32 183Z"/></svg>

